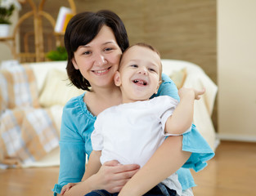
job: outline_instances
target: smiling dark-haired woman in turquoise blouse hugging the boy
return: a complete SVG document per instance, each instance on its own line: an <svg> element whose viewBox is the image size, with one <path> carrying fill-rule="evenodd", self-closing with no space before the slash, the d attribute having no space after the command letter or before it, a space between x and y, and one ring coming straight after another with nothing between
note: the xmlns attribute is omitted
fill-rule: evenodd
<svg viewBox="0 0 256 196"><path fill-rule="evenodd" d="M115 86L113 77L118 69L120 56L128 45L124 24L119 16L111 11L80 13L74 16L67 26L65 32L65 47L69 56L67 73L74 86L87 92L71 99L63 110L61 166L58 184L53 189L55 193L59 194L63 185L79 182L82 179L86 154L90 155L92 152L91 133L97 114L110 106L119 105L122 101L121 92L119 87ZM178 100L174 83L164 74L162 81L164 82L156 96L168 95ZM191 135L168 137L145 167L141 168L141 175L147 175L150 179L148 171L154 169L161 173L161 179L152 180L156 185L177 171L184 163L186 167L203 168L205 165L200 159L203 153L200 152L201 146L195 148L187 143L188 137L191 140L193 136L200 137L195 126ZM212 152L207 155L213 156ZM204 160L205 156L206 154ZM186 162L187 159L189 160ZM110 161L102 165L96 175L75 185L66 191L65 195L84 195L92 189L106 189L110 193L119 192L138 169L135 164L119 165L115 160ZM190 171L182 168L177 173L182 189L185 190L183 195L193 195L190 188L195 183Z"/></svg>

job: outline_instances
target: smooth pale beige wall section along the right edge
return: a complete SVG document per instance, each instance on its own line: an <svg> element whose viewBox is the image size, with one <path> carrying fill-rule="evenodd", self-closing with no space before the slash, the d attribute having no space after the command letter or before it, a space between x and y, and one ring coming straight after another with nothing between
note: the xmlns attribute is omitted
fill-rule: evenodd
<svg viewBox="0 0 256 196"><path fill-rule="evenodd" d="M218 0L218 132L256 141L256 1Z"/></svg>

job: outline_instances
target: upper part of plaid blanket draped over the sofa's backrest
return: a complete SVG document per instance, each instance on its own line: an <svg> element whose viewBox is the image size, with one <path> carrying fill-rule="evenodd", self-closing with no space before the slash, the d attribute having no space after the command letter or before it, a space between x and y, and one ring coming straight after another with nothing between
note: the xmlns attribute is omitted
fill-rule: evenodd
<svg viewBox="0 0 256 196"><path fill-rule="evenodd" d="M39 107L34 72L29 65L0 70L0 113L17 107Z"/></svg>

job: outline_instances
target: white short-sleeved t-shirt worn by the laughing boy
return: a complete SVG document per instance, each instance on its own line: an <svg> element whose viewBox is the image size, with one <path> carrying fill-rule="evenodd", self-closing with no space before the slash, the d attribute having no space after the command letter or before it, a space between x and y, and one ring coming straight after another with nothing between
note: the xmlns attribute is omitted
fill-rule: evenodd
<svg viewBox="0 0 256 196"><path fill-rule="evenodd" d="M91 136L92 149L101 150L101 164L117 160L121 164L137 163L143 167L165 137L175 135L165 133L164 126L177 104L177 100L169 96L158 96L101 112ZM178 195L182 193L176 173L163 183Z"/></svg>

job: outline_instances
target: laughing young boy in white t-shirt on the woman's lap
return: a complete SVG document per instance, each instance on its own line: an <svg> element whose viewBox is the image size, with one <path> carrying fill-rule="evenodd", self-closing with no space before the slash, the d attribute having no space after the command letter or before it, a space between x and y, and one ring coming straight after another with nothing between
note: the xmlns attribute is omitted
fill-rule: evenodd
<svg viewBox="0 0 256 196"><path fill-rule="evenodd" d="M122 92L123 104L106 109L97 116L91 136L93 151L85 179L110 160L117 160L120 164L137 163L143 167L166 136L178 136L191 130L194 100L199 100L204 90L182 88L179 104L169 96L150 99L158 91L161 73L159 52L150 45L138 43L124 51L114 78L115 85ZM152 179L143 179L138 171L119 195L142 195L149 189L145 195L182 195L176 173L163 177L150 172ZM155 179L166 177L155 186ZM139 180L149 183L147 187L140 186L138 192L132 192L132 185L139 184ZM118 194L95 190L87 195Z"/></svg>

